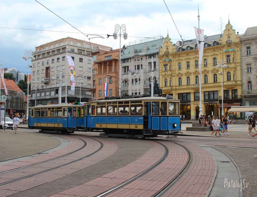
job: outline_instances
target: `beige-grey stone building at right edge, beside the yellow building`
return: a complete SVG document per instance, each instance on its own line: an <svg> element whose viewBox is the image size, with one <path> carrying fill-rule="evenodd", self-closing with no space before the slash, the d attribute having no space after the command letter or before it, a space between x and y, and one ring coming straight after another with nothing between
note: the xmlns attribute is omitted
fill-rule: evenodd
<svg viewBox="0 0 257 197"><path fill-rule="evenodd" d="M246 29L241 37L244 106L257 105L257 26Z"/></svg>

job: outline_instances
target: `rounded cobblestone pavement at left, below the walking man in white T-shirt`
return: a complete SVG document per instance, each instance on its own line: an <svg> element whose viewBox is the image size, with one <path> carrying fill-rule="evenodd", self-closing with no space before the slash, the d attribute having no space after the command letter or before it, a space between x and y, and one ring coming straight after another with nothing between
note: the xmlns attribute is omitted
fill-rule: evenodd
<svg viewBox="0 0 257 197"><path fill-rule="evenodd" d="M54 139L39 133L20 132L13 130L0 130L0 161L33 155L60 144Z"/></svg>

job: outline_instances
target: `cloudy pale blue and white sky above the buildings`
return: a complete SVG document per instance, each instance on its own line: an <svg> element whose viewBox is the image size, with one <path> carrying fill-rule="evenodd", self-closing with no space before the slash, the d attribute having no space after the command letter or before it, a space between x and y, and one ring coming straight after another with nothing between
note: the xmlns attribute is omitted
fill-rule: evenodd
<svg viewBox="0 0 257 197"><path fill-rule="evenodd" d="M126 25L128 39L122 38L121 46L144 37L155 35L166 37L167 31L173 43L181 40L180 34L184 40L194 39L193 27L198 27L198 5L200 28L204 29L204 34L207 36L221 33L221 19L222 30L224 30L228 17L239 34L243 34L248 27L257 26L256 13L253 11L256 2L253 0L247 3L237 0L165 0L179 33L163 0L38 0L38 2L86 35L102 35L104 39L92 38L90 41L113 49L119 48L119 39L106 38L106 35L113 34L115 24ZM68 36L88 41L85 35L38 2L34 0L0 1L2 68L15 67L20 72L27 73L28 62L22 59L25 49L35 51L36 46Z"/></svg>

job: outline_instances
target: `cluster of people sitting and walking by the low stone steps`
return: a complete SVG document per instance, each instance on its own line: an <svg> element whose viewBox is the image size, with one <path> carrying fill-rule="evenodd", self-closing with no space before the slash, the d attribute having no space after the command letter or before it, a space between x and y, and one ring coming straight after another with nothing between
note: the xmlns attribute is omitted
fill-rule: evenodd
<svg viewBox="0 0 257 197"><path fill-rule="evenodd" d="M201 115L199 118L199 123L201 124L202 127L206 126L210 127L211 129L213 129L213 132L210 134L211 136L213 136L212 134L215 132L215 136L218 136L217 133L219 134L219 136L221 136L221 133L219 133L220 131L223 132L223 135L227 135L229 136L230 134L227 132L227 125L231 124L231 120L229 120L228 116L222 116L221 119L219 119L219 116L213 116L212 118L210 117L210 115L208 115L208 117L206 116L206 114ZM232 124L235 124L235 121L232 121ZM221 130L220 130L221 128Z"/></svg>

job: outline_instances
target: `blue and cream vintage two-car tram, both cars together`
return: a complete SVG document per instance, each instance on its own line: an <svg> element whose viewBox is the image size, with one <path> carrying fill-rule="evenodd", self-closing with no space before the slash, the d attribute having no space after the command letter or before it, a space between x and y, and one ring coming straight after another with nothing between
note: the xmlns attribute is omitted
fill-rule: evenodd
<svg viewBox="0 0 257 197"><path fill-rule="evenodd" d="M29 128L40 132L102 132L109 137L157 137L181 129L179 100L167 97L105 98L29 108Z"/></svg>

